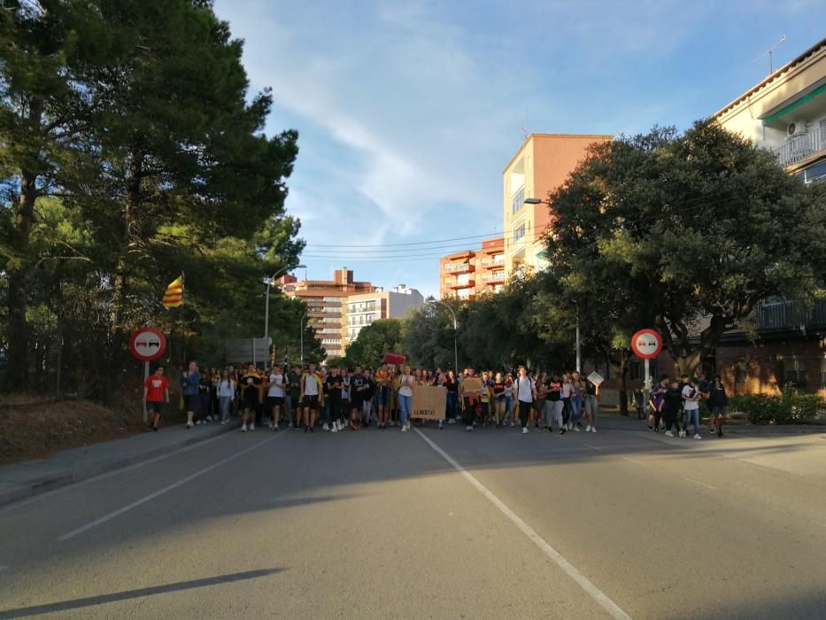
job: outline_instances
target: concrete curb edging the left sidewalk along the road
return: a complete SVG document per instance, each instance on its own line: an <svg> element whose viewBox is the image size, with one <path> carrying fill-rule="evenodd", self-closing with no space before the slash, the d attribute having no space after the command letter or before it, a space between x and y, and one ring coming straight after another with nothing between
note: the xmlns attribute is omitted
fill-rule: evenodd
<svg viewBox="0 0 826 620"><path fill-rule="evenodd" d="M183 430L183 424L177 426L178 428ZM181 438L181 441L175 442L175 444L172 446L159 447L154 450L150 450L148 452L140 454L134 454L132 456L110 459L107 461L98 461L94 465L89 465L87 467L83 467L81 469L77 469L71 472L60 472L58 475L55 475L53 477L43 477L31 483L19 484L17 485L17 488L12 487L11 489L4 490L2 488L4 486L4 483L0 483L0 508L18 502L20 500L28 500L37 495L41 495L42 493L54 491L55 489L68 486L70 484L79 483L83 480L89 480L89 478L100 476L101 474L105 474L110 471L124 469L129 467L130 465L135 465L136 463L149 461L162 454L174 452L175 450L180 450L181 448L187 446L199 444L202 441L206 441L207 439L219 437L220 435L223 435L224 433L227 433L230 430L236 430L236 428L238 427L233 423L224 425L219 424L217 427L215 427L215 430L213 432L209 432L203 435L190 435L186 438ZM7 484L11 485L11 483Z"/></svg>

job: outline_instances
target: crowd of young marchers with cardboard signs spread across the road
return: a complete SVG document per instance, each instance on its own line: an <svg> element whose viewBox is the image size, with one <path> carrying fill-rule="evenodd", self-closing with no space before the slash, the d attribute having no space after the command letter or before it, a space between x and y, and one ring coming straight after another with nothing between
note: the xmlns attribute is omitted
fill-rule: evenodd
<svg viewBox="0 0 826 620"><path fill-rule="evenodd" d="M578 372L529 373L466 368L458 376L449 370L411 369L382 364L378 368L328 368L307 364L304 368L274 364L261 370L210 368L201 371L197 362L181 373L181 408L187 412L189 429L197 424L227 424L241 417L241 430L249 432L266 424L272 430L286 426L304 432L317 428L328 432L379 430L397 427L410 430L413 391L417 386L444 388L444 424L477 427L518 427L548 432L597 432L599 384ZM153 416L150 426L158 429L164 402L169 400L164 368L158 367L144 386L144 399ZM683 375L682 381L661 376L647 402L649 429L674 437L687 437L691 426L699 434L699 401L707 399L712 430L722 437L727 397L719 376L707 382ZM644 417L637 399L637 412ZM420 420L419 423L425 421ZM681 424L682 422L682 424ZM555 427L555 428L554 428Z"/></svg>

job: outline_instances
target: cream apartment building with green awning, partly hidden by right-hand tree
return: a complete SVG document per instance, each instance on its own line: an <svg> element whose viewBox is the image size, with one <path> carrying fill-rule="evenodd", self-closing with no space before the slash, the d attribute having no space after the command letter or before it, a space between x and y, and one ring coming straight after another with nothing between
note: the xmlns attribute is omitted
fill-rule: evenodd
<svg viewBox="0 0 826 620"><path fill-rule="evenodd" d="M789 174L826 182L826 39L714 114L724 128L772 151ZM706 369L730 391L777 391L784 384L826 396L826 303L804 310L768 299L753 317L753 333L732 331Z"/></svg>

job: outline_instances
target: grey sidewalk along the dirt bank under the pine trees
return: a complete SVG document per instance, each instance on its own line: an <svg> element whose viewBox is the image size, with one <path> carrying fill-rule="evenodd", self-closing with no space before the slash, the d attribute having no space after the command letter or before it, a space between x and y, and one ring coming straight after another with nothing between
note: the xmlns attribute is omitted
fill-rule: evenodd
<svg viewBox="0 0 826 620"><path fill-rule="evenodd" d="M4 465L0 467L0 506L171 453L237 428L237 418L223 426L212 422L189 430L180 424L158 432L65 450L47 459Z"/></svg>

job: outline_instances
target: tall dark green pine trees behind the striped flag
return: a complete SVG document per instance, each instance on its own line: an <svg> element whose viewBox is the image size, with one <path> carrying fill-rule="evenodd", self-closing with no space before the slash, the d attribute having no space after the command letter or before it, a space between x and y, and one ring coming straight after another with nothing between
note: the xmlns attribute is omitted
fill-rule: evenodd
<svg viewBox="0 0 826 620"><path fill-rule="evenodd" d="M111 394L146 323L179 364L259 336L262 279L303 248L284 211L297 134L264 133L273 97L249 91L212 4L9 2L0 40L6 387L51 384L62 356L64 389ZM181 271L185 305L167 312ZM276 290L270 313L297 359L305 305ZM319 347L307 329L307 355Z"/></svg>

